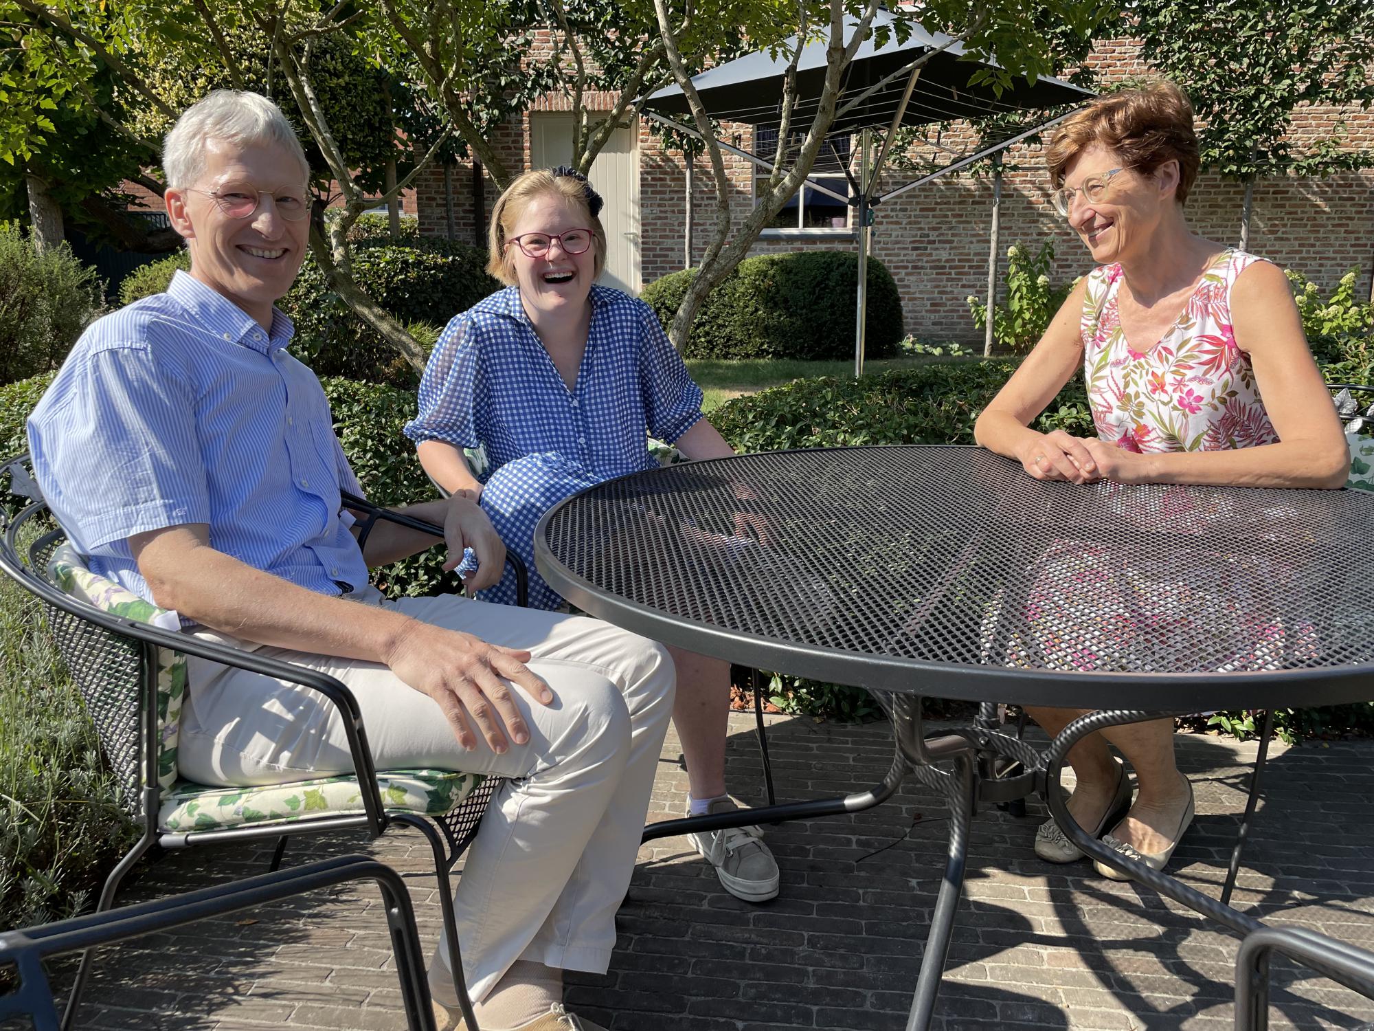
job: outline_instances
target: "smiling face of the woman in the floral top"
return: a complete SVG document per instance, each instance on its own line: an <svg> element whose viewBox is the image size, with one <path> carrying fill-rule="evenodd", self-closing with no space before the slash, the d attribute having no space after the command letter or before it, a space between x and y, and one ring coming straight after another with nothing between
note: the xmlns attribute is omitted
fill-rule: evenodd
<svg viewBox="0 0 1374 1031"><path fill-rule="evenodd" d="M1178 184L1178 162L1167 162L1153 175L1140 175L1124 168L1117 154L1101 146L1085 148L1068 165L1063 184L1079 187L1113 168L1123 170L1112 177L1096 201L1080 192L1069 208L1069 225L1087 243L1092 260L1102 265L1129 263L1149 253L1156 230L1175 206Z"/></svg>

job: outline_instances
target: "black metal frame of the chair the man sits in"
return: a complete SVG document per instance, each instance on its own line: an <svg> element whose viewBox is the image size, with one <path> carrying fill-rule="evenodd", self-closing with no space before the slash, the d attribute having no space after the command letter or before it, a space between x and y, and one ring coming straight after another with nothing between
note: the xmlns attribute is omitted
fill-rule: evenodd
<svg viewBox="0 0 1374 1031"><path fill-rule="evenodd" d="M60 526L41 532L37 540L29 546L27 555L21 554L21 535L40 521L55 524L55 520L52 520L47 503L43 500L29 474L27 455L19 455L0 465L0 474L4 473L10 474L11 492L29 496L33 499L33 503L12 517L8 513L0 511L0 529L4 531L3 542L0 542L0 569L43 602L49 630L58 641L59 652L62 652L73 678L81 687L87 709L100 737L106 760L120 779L124 808L140 829L139 840L120 859L106 878L96 903L96 913L103 913L113 907L114 895L120 884L139 859L154 845L174 850L201 844L243 843L275 837L278 839L278 845L269 867L269 870L275 870L282 858L286 840L297 834L365 829L368 837L379 837L392 825L415 828L425 834L434 855L434 872L438 880L440 909L448 940L449 966L453 972L463 1020L469 1028L474 1028L475 1031L477 1020L473 1016L467 986L463 980L458 922L453 914L451 872L459 856L462 856L463 850L467 848L467 844L475 836L482 814L486 811L500 784L500 778L488 777L458 807L442 817L387 812L376 784L376 767L367 744L367 731L363 726L361 711L346 685L334 676L313 669L267 658L257 653L227 645L202 641L188 634L179 634L114 616L59 590L47 580L45 565L51 550L66 535ZM360 537L364 539L365 532L378 520L400 522L412 529L442 536L442 531L433 524L390 513L360 498L350 496L346 500L346 507L360 511L367 517L364 520L365 526L360 532ZM519 558L517 555L511 555L510 558L517 564L517 575L523 573ZM113 691L104 679L92 675L92 671L82 669L81 664L74 661L77 658L73 654L74 643L87 645L91 642L98 642L98 646L106 652L113 647L125 661L133 663L133 674L137 679L136 689L132 691L126 690L122 698L111 698ZM326 814L313 818L302 817L286 825L269 823L254 826L250 823L240 828L174 833L161 830L158 828L158 810L162 788L158 784L157 730L157 650L159 647L173 649L188 656L196 656L298 685L315 691L327 704L338 709L361 792L363 812L353 815ZM111 740L121 731L125 735L128 731L132 731L133 740L122 742ZM67 1009L62 1019L63 1031L69 1031L74 1024L81 993L89 976L89 968L91 953L87 951L81 958L81 966L77 971L71 995L67 999Z"/></svg>

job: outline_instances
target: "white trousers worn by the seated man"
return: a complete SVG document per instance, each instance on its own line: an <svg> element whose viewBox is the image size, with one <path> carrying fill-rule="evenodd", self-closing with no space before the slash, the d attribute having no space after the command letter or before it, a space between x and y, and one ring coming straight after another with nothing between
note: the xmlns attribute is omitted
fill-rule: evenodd
<svg viewBox="0 0 1374 1031"><path fill-rule="evenodd" d="M504 755L459 748L429 697L376 663L229 641L337 676L357 697L376 768L437 767L507 779L467 852L455 892L469 991L482 999L517 960L605 973L616 910L635 867L654 771L673 707L673 664L646 638L599 620L467 598L393 606L493 645L528 649L554 691L517 690L529 724ZM260 785L352 771L342 720L304 687L191 658L179 764L212 785ZM445 943L438 961L445 964Z"/></svg>

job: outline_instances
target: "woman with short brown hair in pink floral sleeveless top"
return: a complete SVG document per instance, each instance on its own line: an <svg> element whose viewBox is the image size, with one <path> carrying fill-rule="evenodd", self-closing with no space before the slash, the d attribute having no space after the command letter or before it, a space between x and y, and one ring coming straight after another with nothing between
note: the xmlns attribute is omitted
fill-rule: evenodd
<svg viewBox="0 0 1374 1031"><path fill-rule="evenodd" d="M978 418L977 441L1037 480L1341 487L1345 440L1287 279L1184 219L1198 142L1183 92L1160 81L1099 98L1059 126L1046 158L1054 206L1096 268ZM1096 436L1032 429L1079 367ZM1030 709L1051 734L1079 715ZM1069 753L1073 818L1157 870L1194 811L1172 734L1172 720L1123 726ZM1134 804L1109 741L1135 770ZM1052 819L1035 851L1051 862L1083 855Z"/></svg>

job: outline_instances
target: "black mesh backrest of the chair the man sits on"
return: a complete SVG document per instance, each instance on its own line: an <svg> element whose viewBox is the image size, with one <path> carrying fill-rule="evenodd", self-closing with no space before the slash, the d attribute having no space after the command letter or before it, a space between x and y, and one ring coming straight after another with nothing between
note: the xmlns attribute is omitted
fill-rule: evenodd
<svg viewBox="0 0 1374 1031"><path fill-rule="evenodd" d="M33 553L33 575L47 579L48 558L60 543L60 539L54 540ZM100 738L106 762L120 788L120 800L139 819L143 817L139 762L143 649L132 638L98 627L80 616L51 605L43 608L58 652L81 691L87 713Z"/></svg>

